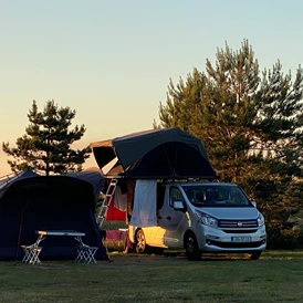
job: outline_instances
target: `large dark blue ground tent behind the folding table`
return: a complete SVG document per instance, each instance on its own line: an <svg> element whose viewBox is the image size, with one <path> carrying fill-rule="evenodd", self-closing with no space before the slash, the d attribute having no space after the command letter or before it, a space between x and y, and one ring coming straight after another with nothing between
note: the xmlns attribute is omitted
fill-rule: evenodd
<svg viewBox="0 0 303 303"><path fill-rule="evenodd" d="M21 259L21 245L36 240L35 230L85 232L84 243L100 248L96 259L107 259L94 213L103 185L100 169L62 176L25 170L0 182L0 260ZM40 257L74 259L76 244L71 237L46 237Z"/></svg>

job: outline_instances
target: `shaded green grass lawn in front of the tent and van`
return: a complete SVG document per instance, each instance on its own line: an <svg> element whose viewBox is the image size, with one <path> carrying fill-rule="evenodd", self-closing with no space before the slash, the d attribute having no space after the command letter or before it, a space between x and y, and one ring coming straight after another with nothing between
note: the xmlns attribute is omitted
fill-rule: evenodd
<svg viewBox="0 0 303 303"><path fill-rule="evenodd" d="M303 302L303 251L111 254L113 262L0 262L0 302Z"/></svg>

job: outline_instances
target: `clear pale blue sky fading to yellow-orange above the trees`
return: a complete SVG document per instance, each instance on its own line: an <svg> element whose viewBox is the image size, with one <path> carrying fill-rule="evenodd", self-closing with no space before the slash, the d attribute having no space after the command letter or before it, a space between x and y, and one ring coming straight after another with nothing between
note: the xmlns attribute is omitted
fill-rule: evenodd
<svg viewBox="0 0 303 303"><path fill-rule="evenodd" d="M36 100L76 111L79 143L150 129L169 79L252 45L261 70L303 56L302 0L0 0L0 143L25 134ZM11 173L0 149L0 177ZM93 158L85 167L96 166Z"/></svg>

